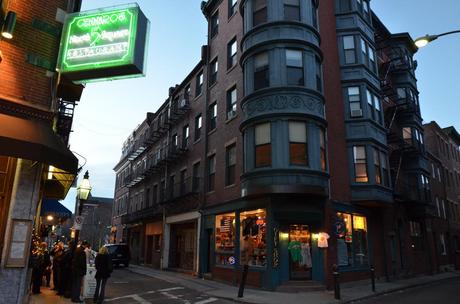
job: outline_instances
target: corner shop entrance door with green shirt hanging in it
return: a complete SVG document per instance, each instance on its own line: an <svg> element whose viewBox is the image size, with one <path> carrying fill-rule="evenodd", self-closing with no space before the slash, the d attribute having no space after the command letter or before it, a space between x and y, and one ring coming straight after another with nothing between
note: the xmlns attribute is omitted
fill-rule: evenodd
<svg viewBox="0 0 460 304"><path fill-rule="evenodd" d="M288 250L290 279L311 280L311 232L308 225L289 225Z"/></svg>

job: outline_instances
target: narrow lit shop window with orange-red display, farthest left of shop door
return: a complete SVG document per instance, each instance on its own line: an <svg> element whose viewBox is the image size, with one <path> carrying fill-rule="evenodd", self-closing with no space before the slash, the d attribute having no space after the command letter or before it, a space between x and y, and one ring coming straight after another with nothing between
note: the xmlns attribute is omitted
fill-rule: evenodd
<svg viewBox="0 0 460 304"><path fill-rule="evenodd" d="M232 265L235 259L235 213L216 216L216 265Z"/></svg>

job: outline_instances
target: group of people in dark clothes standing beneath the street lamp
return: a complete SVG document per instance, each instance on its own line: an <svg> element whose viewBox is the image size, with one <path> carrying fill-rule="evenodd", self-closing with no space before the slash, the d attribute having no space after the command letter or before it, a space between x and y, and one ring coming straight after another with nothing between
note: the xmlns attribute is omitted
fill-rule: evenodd
<svg viewBox="0 0 460 304"><path fill-rule="evenodd" d="M51 274L53 288L57 295L70 298L74 303L82 303L80 294L83 277L87 272L87 264L92 264L92 250L88 242L83 241L78 245L69 241L65 248L63 242L54 245L48 252L47 243L43 242L32 251L32 292L40 293L43 277L46 278L46 286L50 287ZM101 247L95 259L96 267L96 292L94 303L102 303L104 300L105 284L113 270L112 260L106 247Z"/></svg>

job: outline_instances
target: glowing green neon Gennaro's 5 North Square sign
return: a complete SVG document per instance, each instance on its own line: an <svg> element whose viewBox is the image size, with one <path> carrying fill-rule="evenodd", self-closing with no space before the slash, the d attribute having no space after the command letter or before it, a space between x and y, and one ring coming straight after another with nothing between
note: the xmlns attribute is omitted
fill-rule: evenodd
<svg viewBox="0 0 460 304"><path fill-rule="evenodd" d="M57 70L76 82L142 76L148 23L136 4L69 14Z"/></svg>

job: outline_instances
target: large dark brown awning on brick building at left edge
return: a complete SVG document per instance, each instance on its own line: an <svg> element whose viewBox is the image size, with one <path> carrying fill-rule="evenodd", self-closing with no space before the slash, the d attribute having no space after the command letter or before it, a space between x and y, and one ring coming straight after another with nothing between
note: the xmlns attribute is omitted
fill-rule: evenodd
<svg viewBox="0 0 460 304"><path fill-rule="evenodd" d="M0 114L0 155L35 160L77 173L75 155L51 126L36 120Z"/></svg>

